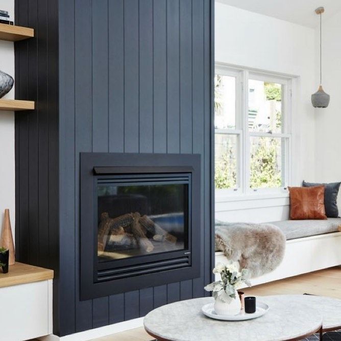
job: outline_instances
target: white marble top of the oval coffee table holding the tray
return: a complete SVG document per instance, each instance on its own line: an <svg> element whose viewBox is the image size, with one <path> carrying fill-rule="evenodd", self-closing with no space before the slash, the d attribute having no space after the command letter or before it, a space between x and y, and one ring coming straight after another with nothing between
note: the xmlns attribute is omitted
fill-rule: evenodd
<svg viewBox="0 0 341 341"><path fill-rule="evenodd" d="M258 319L218 321L201 312L213 298L176 302L154 309L144 318L145 330L161 341L281 341L298 340L320 331L322 314L296 296L259 297L269 311ZM308 302L307 302L308 303Z"/></svg>

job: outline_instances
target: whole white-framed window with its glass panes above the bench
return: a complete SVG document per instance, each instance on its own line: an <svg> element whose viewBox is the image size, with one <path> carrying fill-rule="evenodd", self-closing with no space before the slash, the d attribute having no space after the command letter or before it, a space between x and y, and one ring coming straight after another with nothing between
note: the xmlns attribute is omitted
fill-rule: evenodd
<svg viewBox="0 0 341 341"><path fill-rule="evenodd" d="M247 69L216 68L217 192L283 191L290 178L291 83Z"/></svg>

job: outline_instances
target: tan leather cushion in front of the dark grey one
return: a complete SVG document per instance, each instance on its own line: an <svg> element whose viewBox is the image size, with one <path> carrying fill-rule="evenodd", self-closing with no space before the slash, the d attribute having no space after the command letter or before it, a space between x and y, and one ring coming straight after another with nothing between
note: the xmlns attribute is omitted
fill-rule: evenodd
<svg viewBox="0 0 341 341"><path fill-rule="evenodd" d="M325 186L288 188L290 219L327 219L324 205Z"/></svg>

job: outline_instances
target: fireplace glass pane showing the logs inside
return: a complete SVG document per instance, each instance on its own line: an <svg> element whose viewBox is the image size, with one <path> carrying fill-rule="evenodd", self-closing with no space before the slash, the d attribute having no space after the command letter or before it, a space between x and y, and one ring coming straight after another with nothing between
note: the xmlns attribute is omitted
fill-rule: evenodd
<svg viewBox="0 0 341 341"><path fill-rule="evenodd" d="M187 249L188 204L181 181L98 182L98 260Z"/></svg>

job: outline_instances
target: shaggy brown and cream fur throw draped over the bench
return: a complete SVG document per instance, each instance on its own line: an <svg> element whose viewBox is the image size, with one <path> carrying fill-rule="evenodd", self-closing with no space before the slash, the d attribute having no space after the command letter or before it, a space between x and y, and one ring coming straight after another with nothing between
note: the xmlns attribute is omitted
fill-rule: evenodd
<svg viewBox="0 0 341 341"><path fill-rule="evenodd" d="M276 269L285 251L285 236L272 224L223 223L215 224L215 250L238 261L258 277Z"/></svg>

